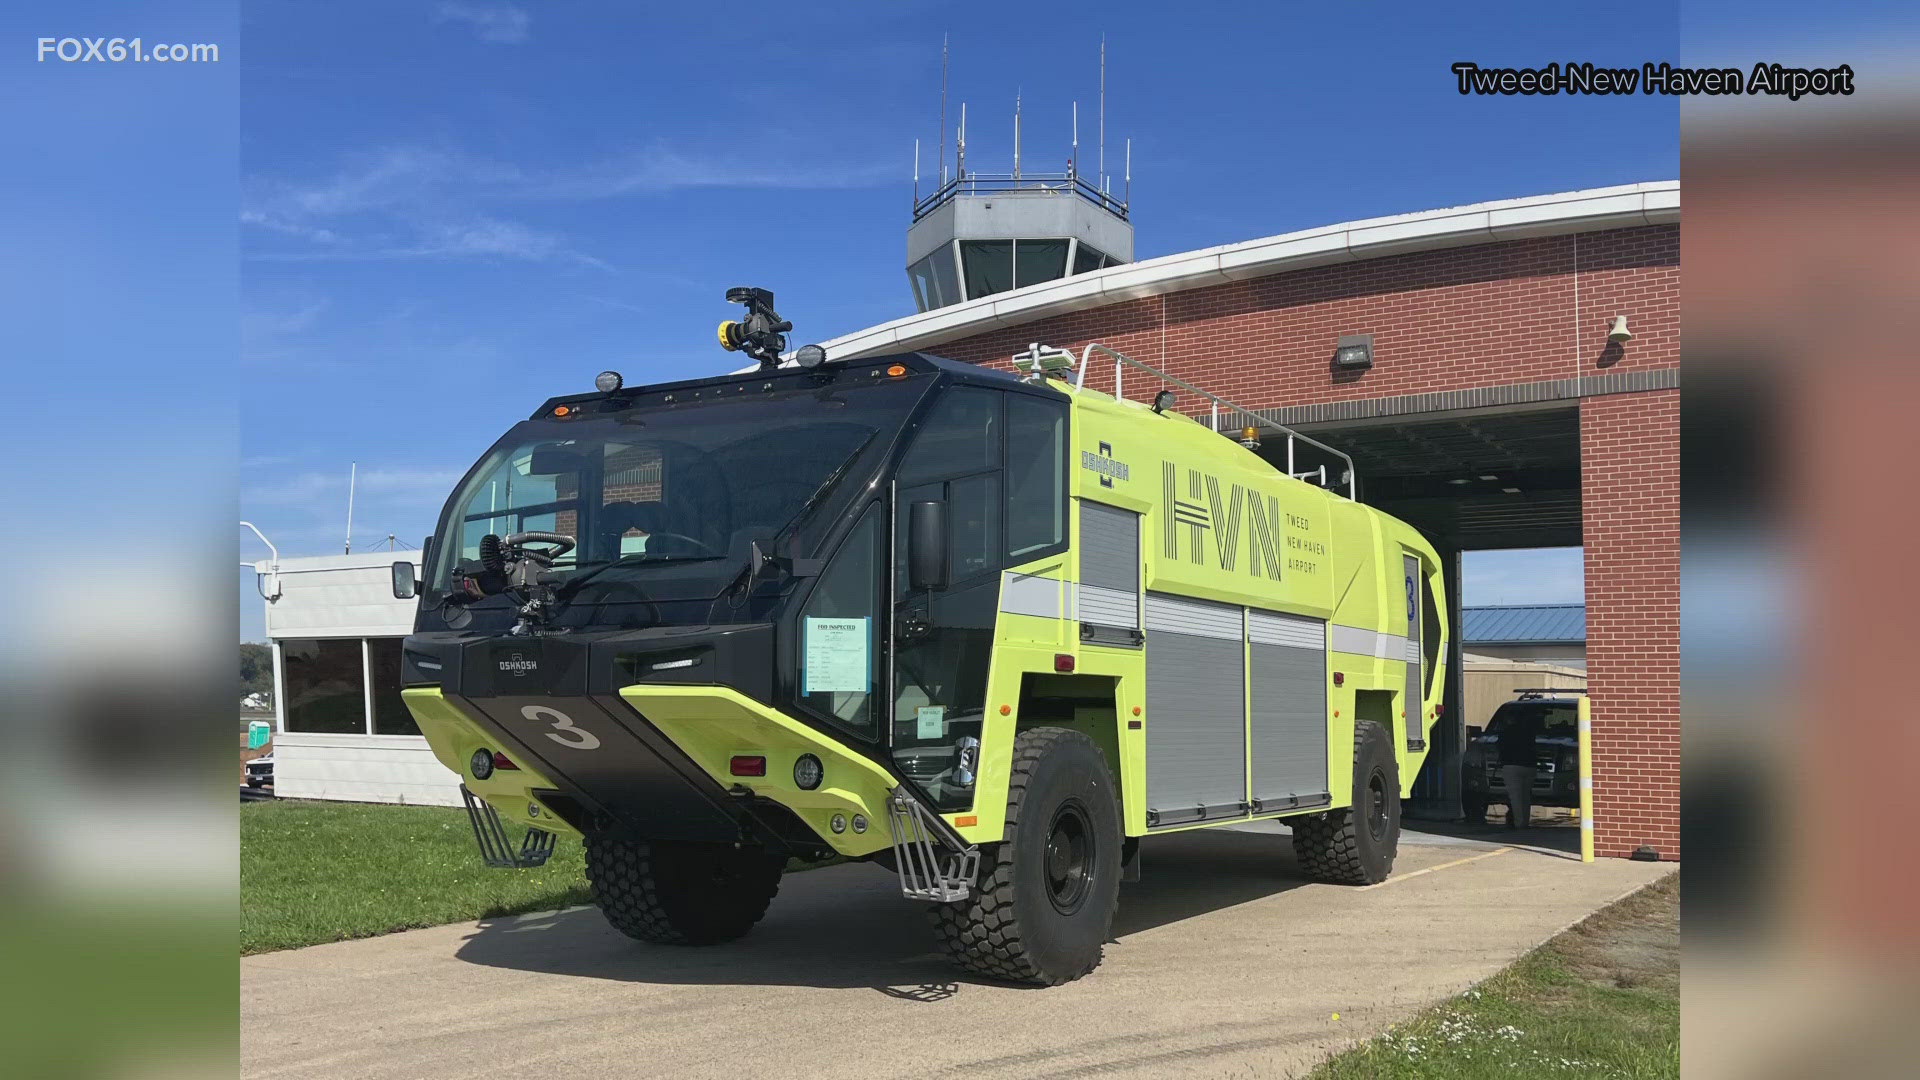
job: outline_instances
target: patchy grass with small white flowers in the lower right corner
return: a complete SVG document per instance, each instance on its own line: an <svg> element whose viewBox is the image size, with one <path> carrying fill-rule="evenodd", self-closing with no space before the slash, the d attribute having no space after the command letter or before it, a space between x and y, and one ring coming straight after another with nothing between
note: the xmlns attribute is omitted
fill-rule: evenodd
<svg viewBox="0 0 1920 1080"><path fill-rule="evenodd" d="M1670 874L1309 1080L1678 1074L1680 874Z"/></svg>

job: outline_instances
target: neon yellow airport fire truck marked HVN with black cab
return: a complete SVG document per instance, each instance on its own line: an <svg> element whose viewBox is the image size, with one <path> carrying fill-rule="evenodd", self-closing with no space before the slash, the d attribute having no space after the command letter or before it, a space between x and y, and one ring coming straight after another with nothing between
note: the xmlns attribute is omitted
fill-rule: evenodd
<svg viewBox="0 0 1920 1080"><path fill-rule="evenodd" d="M394 565L488 863L578 836L614 928L701 945L876 861L1033 984L1100 963L1148 836L1279 819L1317 880L1390 872L1448 607L1344 455L1102 346L789 356L728 298L758 369L541 404Z"/></svg>

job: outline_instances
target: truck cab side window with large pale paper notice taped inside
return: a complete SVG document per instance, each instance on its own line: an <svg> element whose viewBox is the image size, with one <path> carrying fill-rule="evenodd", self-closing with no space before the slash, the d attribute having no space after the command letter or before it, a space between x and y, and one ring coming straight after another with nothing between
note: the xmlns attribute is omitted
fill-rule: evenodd
<svg viewBox="0 0 1920 1080"><path fill-rule="evenodd" d="M799 698L860 734L874 730L879 623L879 507L868 507L801 609Z"/></svg>

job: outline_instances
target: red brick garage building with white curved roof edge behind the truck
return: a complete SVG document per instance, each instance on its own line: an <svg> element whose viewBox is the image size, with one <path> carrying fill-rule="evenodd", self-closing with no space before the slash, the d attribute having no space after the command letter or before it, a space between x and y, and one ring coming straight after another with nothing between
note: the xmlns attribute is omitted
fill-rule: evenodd
<svg viewBox="0 0 1920 1080"><path fill-rule="evenodd" d="M1678 183L1108 265L826 348L1008 367L1033 342L1100 342L1350 454L1361 500L1444 553L1455 628L1461 552L1580 546L1596 847L1680 857ZM1089 365L1087 384L1114 380ZM1162 388L1137 371L1123 382L1140 400ZM1175 407L1208 415L1192 396ZM1450 665L1409 817L1459 815L1465 724L1484 723L1463 715L1457 634Z"/></svg>

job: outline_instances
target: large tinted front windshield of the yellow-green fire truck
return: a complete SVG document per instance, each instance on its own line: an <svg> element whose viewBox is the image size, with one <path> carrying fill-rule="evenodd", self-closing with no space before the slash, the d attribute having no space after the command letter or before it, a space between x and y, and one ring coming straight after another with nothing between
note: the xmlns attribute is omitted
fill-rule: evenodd
<svg viewBox="0 0 1920 1080"><path fill-rule="evenodd" d="M924 382L797 390L708 404L526 421L449 505L436 586L493 532L559 532L555 569L614 575L743 559L824 496L870 444L904 423Z"/></svg>

